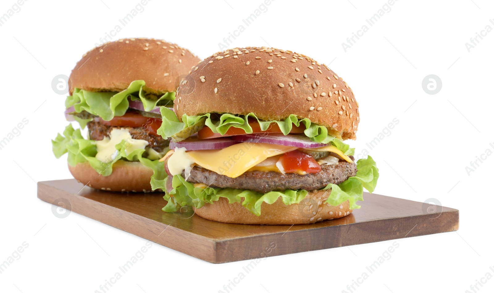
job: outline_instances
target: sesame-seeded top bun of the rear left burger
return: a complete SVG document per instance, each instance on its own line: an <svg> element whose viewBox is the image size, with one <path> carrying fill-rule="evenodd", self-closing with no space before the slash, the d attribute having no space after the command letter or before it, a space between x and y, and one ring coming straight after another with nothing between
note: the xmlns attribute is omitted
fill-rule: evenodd
<svg viewBox="0 0 494 293"><path fill-rule="evenodd" d="M144 80L150 93L174 92L181 78L199 61L188 49L162 40L121 39L82 56L70 75L70 94L75 88L120 92L134 80Z"/></svg>

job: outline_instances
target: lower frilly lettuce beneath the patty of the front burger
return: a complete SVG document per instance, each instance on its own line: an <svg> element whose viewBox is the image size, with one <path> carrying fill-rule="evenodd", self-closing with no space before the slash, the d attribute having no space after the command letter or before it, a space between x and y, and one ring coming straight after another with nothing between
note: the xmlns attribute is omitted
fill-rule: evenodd
<svg viewBox="0 0 494 293"><path fill-rule="evenodd" d="M360 205L356 204L357 200L364 200L364 188L371 193L374 191L377 178L379 177L379 171L371 156L368 156L367 159L358 160L357 169L358 171L355 176L348 178L338 185L329 184L323 189L331 189L331 193L326 200L328 204L337 206L348 200L351 209L360 208ZM200 208L205 203L214 204L214 201L217 201L220 197L226 197L229 203L241 202L242 198L244 198L242 205L254 215L259 216L263 202L272 204L281 196L283 203L286 205L299 203L308 193L306 190L286 190L262 194L251 190L233 188L200 188L194 187L192 183L185 181L181 175L173 176L171 185L172 190L167 192L165 189L165 180L152 181L153 189L160 188L165 191L164 198L168 203L163 210L166 212L174 212L179 210L180 207L187 205Z"/></svg>

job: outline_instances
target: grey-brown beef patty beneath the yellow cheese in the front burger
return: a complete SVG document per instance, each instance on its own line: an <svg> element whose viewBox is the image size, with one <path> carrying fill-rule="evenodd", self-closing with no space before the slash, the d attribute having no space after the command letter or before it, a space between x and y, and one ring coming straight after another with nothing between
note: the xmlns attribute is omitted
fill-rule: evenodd
<svg viewBox="0 0 494 293"><path fill-rule="evenodd" d="M352 161L354 160L353 156L350 156L350 158ZM187 182L204 183L213 188L248 189L260 193L287 189L311 191L325 188L330 183L340 184L347 180L348 177L355 176L357 172L357 165L354 162L349 163L344 160L340 160L335 165L324 164L321 168L322 171L319 173L305 175L282 174L274 171L251 171L245 172L237 178L230 178L200 166L194 166L190 176L187 178ZM185 171L182 172L182 177L185 178Z"/></svg>

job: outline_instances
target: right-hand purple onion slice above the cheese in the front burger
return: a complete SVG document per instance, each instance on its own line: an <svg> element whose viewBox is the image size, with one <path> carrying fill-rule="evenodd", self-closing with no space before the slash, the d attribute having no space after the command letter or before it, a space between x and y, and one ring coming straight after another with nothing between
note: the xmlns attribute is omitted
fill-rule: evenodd
<svg viewBox="0 0 494 293"><path fill-rule="evenodd" d="M324 147L326 144L316 143L303 135L295 134L245 134L233 137L238 142L265 143L288 147Z"/></svg>

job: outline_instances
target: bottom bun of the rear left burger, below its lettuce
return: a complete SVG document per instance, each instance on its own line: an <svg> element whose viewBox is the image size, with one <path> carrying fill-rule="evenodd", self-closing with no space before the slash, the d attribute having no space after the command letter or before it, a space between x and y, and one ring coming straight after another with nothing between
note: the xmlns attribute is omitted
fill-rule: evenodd
<svg viewBox="0 0 494 293"><path fill-rule="evenodd" d="M84 185L95 189L117 192L151 192L153 170L140 162L119 160L113 164L110 176L101 176L89 162L69 165L70 173Z"/></svg>

